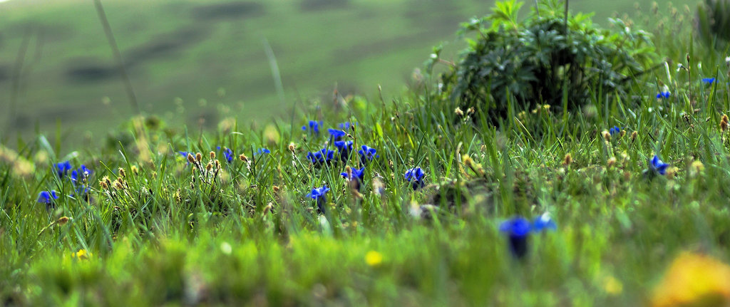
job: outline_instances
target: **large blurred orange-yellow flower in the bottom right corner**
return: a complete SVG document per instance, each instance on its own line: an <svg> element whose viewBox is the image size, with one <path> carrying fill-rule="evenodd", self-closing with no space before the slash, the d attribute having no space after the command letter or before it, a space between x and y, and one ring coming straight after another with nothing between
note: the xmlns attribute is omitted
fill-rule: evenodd
<svg viewBox="0 0 730 307"><path fill-rule="evenodd" d="M651 305L728 306L730 267L712 257L685 252L654 289Z"/></svg>

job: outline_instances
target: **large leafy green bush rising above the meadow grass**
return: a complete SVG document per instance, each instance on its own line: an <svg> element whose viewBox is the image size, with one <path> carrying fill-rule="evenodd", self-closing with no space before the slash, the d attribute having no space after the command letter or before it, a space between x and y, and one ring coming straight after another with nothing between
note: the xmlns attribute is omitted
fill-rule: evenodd
<svg viewBox="0 0 730 307"><path fill-rule="evenodd" d="M622 96L636 77L657 62L649 34L632 31L621 20L619 31L597 28L591 15L569 15L557 1L545 1L518 20L522 3L497 2L493 13L464 23L469 47L441 75L438 95L460 106L480 107L493 123L512 111L537 104L577 109ZM429 71L439 48L427 61Z"/></svg>

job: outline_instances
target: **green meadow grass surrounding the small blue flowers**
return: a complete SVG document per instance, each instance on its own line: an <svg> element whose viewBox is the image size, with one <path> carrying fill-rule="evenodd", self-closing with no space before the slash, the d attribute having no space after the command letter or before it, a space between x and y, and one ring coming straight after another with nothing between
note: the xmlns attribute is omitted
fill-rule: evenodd
<svg viewBox="0 0 730 307"><path fill-rule="evenodd" d="M623 103L536 110L496 128L480 123L482 110L459 115L450 101L413 88L393 99L354 96L341 109L300 104L271 121L223 120L205 131L134 117L110 144L78 146L61 129L50 141L39 133L6 143L0 301L645 305L677 254L730 260L730 143L719 128L730 112L727 55L693 42L690 28L669 23L671 12L648 18L668 25L656 29L662 55L680 62L690 53L692 61L691 76L670 67L637 80L669 85L666 99L656 99L658 86L637 86ZM701 81L714 75L712 86ZM323 121L320 135L301 130L307 120ZM380 155L366 164L360 195L340 176L361 165L356 153L319 168L306 158L334 149L326 128L344 122L357 123L348 131L355 148ZM613 125L626 135L604 139ZM234 152L231 163L218 146ZM271 153L257 155L259 148ZM220 170L201 178L205 166L193 171L180 151L201 152L203 165L213 151ZM654 155L671 168L648 179L642 172ZM93 173L77 184L59 177L55 163L66 160ZM403 174L416 166L426 187L414 191ZM120 186L104 188L105 176ZM378 182L383 195L374 193ZM307 193L323 184L331 190L318 214ZM44 190L59 195L50 210L37 202ZM427 204L438 209L421 212ZM558 228L531 236L528 255L515 260L500 223L545 212Z"/></svg>

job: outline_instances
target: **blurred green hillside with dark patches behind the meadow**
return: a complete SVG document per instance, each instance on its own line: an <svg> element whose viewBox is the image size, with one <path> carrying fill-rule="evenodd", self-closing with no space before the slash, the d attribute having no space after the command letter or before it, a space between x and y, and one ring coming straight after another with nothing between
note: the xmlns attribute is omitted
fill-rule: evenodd
<svg viewBox="0 0 730 307"><path fill-rule="evenodd" d="M659 7L669 1L657 1ZM483 0L104 0L144 114L169 125L215 126L291 112L295 101L397 96L431 47L463 47L459 23ZM675 1L675 7L694 1ZM526 14L533 1L526 1ZM594 23L636 16L650 1L573 0ZM272 77L266 42L280 69ZM92 0L0 0L0 138L63 131L104 135L133 111ZM284 105L283 105L284 104ZM291 114L291 113L290 113ZM200 119L203 118L204 121ZM59 129L60 128L60 129Z"/></svg>

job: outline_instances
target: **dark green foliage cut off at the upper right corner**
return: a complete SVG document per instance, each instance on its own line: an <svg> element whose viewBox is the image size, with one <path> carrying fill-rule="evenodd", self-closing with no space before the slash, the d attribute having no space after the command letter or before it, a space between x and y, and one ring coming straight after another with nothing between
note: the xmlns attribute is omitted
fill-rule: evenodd
<svg viewBox="0 0 730 307"><path fill-rule="evenodd" d="M730 42L730 1L704 0L697 5L697 31L712 47Z"/></svg>

